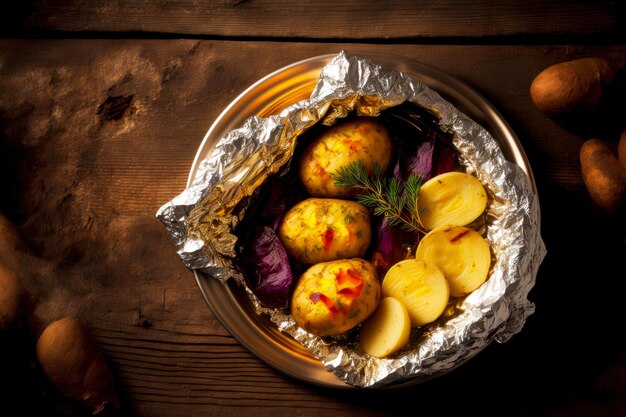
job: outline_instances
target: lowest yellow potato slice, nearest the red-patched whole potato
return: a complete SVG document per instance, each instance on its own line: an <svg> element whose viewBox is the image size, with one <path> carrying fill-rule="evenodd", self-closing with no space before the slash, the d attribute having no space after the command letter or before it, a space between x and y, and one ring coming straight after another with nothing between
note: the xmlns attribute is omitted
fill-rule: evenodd
<svg viewBox="0 0 626 417"><path fill-rule="evenodd" d="M372 356L384 358L402 349L411 334L411 319L404 304L393 297L385 297L378 308L363 323L359 341Z"/></svg>

